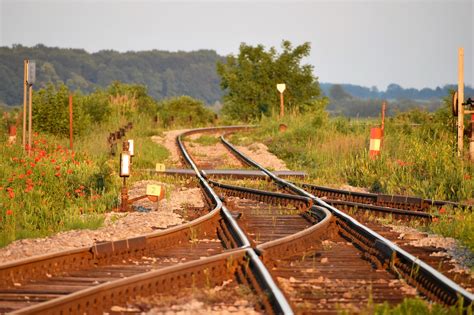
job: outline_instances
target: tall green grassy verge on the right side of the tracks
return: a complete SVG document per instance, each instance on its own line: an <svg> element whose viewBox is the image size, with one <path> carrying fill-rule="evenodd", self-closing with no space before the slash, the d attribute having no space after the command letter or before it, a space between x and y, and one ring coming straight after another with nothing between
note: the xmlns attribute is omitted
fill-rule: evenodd
<svg viewBox="0 0 474 315"><path fill-rule="evenodd" d="M377 121L327 119L322 113L289 115L283 121L264 118L261 128L231 141L265 143L289 168L308 172L306 181L315 184L472 202L474 165L455 156L451 131L433 117L419 119L415 126L406 115L403 119L387 121L382 154L376 160L369 158L368 148L370 127ZM279 132L280 123L288 126L285 132ZM474 214L449 209L444 214L428 229L474 250Z"/></svg>

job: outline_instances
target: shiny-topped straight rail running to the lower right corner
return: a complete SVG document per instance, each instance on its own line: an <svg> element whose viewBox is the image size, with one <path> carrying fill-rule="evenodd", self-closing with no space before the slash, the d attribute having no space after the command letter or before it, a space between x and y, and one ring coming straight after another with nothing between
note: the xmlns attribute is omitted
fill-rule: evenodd
<svg viewBox="0 0 474 315"><path fill-rule="evenodd" d="M300 196L311 198L315 205L328 209L335 218L338 233L344 239L350 240L355 247L361 249L365 258L371 261L378 270L386 270L397 277L403 278L406 283L415 287L419 293L432 301L446 305L455 305L458 301L461 301L465 307L472 309L473 294L432 266L419 260L346 213L329 205L323 199L275 176L255 161L241 154L223 136L221 140L240 159L265 172L277 186L288 189ZM265 260L265 254L262 256ZM271 255L271 257L274 257L274 255Z"/></svg>

